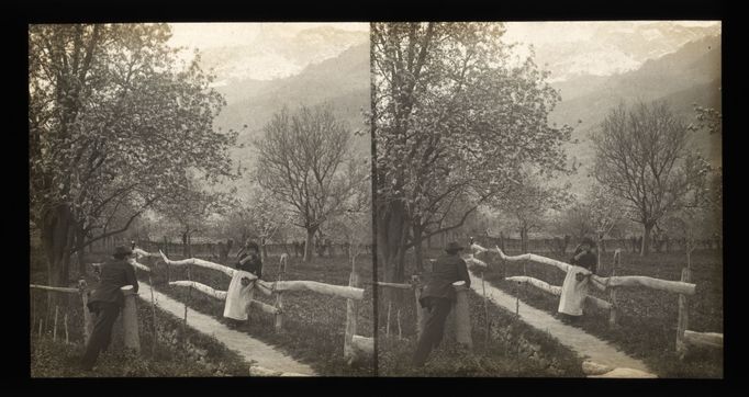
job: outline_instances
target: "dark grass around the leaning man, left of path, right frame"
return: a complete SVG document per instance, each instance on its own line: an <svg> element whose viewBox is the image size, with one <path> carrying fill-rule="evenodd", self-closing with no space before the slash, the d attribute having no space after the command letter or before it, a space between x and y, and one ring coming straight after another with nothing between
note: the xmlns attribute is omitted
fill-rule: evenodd
<svg viewBox="0 0 749 397"><path fill-rule="evenodd" d="M406 257L406 273L412 268ZM382 288L380 290L382 291ZM544 331L539 331L504 308L488 303L488 316L483 297L468 293L473 347L468 350L455 343L455 331L448 317L446 333L440 345L433 350L422 368L411 366L416 348L416 302L406 291L400 302L401 334L398 332L398 310L391 306L388 334L388 305L384 299L378 306L378 374L380 376L474 376L474 377L580 377L582 360L567 347ZM382 295L379 295L381 297ZM489 322L489 338L487 338ZM518 340L540 348L537 359L532 360L518 351Z"/></svg>

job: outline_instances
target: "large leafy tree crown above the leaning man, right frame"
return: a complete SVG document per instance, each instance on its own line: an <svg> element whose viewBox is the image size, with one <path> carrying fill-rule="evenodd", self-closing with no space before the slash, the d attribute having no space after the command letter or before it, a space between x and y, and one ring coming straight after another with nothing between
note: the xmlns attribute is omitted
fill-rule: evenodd
<svg viewBox="0 0 749 397"><path fill-rule="evenodd" d="M511 63L503 33L499 23L371 26L370 123L387 277L402 279L404 250L415 247L418 257L422 239L462 225L522 165L564 168L561 145L571 129L547 123L559 94L530 57Z"/></svg>

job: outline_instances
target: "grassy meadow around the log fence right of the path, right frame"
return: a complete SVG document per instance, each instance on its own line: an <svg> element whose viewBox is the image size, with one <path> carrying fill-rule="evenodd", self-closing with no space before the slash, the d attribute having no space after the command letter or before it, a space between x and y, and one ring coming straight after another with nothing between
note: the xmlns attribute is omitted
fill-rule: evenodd
<svg viewBox="0 0 749 397"><path fill-rule="evenodd" d="M567 261L569 258L547 254ZM564 279L556 268L537 263L501 263L496 257L487 261L487 282L504 292L519 296L530 306L555 314L559 298L533 286L515 286L505 276L529 275L552 285ZM613 252L602 254L603 276L611 275ZM647 275L663 280L680 280L685 265L683 252L651 253L639 257L623 252L617 275ZM689 329L701 332L723 332L723 261L716 251L696 251L692 256L692 282L696 294L689 297ZM591 288L591 294L608 300L608 294ZM600 339L613 342L625 353L641 359L660 377L723 377L723 353L695 351L680 361L675 353L678 295L649 288L619 288L618 327L610 329L608 310L585 307L585 315L574 327Z"/></svg>

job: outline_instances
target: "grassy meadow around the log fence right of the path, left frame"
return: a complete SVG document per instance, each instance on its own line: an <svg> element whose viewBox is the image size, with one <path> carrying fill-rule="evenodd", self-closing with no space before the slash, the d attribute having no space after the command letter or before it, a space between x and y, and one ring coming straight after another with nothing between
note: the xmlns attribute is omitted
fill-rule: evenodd
<svg viewBox="0 0 749 397"><path fill-rule="evenodd" d="M179 259L177 256L170 259ZM275 281L278 274L278 257L271 256L266 260L262 269L264 280ZM360 279L371 279L371 259L359 257ZM156 290L171 296L179 302L187 302L189 294L190 308L210 315L219 321L231 325L223 318L224 302L209 297L199 292L189 292L181 286L167 284L167 269L158 261L153 265L153 283ZM350 264L346 257L333 258L314 257L304 263L301 258L291 257L287 265L284 280L310 280L336 285L348 285ZM187 269L171 266L169 281L188 280ZM138 274L138 280L145 273ZM230 277L221 272L199 266L192 266L191 280L203 283L216 290L226 291ZM273 305L275 297L259 292L254 298ZM359 304L357 334L372 336L372 295L371 288L365 288L365 297ZM283 330L277 333L272 315L250 310L245 324L236 328L271 344L297 361L312 366L315 372L324 376L373 376L371 363L356 366L346 364L343 358L344 331L346 324L346 299L312 292L287 292L283 294ZM188 319L189 321L189 319Z"/></svg>

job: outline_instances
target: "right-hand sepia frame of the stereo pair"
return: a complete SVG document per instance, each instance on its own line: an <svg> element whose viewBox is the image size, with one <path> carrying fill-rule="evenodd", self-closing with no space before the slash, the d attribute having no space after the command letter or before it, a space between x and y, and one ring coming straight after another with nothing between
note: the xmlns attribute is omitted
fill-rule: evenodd
<svg viewBox="0 0 749 397"><path fill-rule="evenodd" d="M372 23L380 376L723 377L720 29Z"/></svg>

